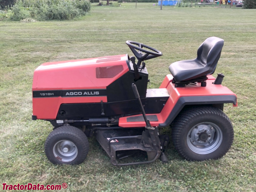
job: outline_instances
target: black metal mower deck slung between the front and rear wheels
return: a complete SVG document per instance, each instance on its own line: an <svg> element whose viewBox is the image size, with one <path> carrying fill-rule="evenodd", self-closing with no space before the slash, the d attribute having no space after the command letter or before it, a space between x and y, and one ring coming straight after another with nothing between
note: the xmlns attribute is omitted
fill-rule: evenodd
<svg viewBox="0 0 256 192"><path fill-rule="evenodd" d="M117 127L117 129L95 131L97 141L101 144L103 149L109 155L109 157L111 158L111 163L113 165L134 165L150 163L155 161L160 156L161 151L151 145L152 142L151 138L149 137L148 130L144 131L144 129L141 128L118 128L120 127ZM141 151L146 152L148 158L146 161L121 164L117 161L117 159L123 159L129 156L133 156L136 153L141 153Z"/></svg>

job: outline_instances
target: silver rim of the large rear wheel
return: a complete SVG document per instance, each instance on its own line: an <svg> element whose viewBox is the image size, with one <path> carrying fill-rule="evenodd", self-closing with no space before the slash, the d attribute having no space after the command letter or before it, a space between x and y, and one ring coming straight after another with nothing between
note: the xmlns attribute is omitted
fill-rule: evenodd
<svg viewBox="0 0 256 192"><path fill-rule="evenodd" d="M192 127L187 134L188 147L197 154L209 154L217 150L223 141L223 133L218 125L202 122Z"/></svg>

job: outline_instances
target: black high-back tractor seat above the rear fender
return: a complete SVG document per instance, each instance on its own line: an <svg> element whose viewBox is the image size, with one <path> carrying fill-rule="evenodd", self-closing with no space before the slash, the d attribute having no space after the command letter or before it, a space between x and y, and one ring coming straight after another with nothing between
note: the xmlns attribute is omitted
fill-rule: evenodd
<svg viewBox="0 0 256 192"><path fill-rule="evenodd" d="M213 74L224 45L224 40L218 37L207 38L197 50L197 58L177 61L169 66L176 82L190 81ZM196 82L196 81L195 81Z"/></svg>

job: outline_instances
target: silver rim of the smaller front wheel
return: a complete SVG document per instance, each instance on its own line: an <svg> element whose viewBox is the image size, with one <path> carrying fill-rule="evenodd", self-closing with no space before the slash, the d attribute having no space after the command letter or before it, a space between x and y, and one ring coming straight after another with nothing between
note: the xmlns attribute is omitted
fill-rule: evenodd
<svg viewBox="0 0 256 192"><path fill-rule="evenodd" d="M62 162L73 161L78 154L77 146L69 140L61 140L53 147L55 158Z"/></svg>

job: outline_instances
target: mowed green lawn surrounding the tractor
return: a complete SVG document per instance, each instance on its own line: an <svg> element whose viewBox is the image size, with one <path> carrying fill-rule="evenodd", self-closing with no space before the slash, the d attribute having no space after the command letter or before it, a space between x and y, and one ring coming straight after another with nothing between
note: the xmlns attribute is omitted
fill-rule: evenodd
<svg viewBox="0 0 256 192"><path fill-rule="evenodd" d="M121 5L92 6L89 15L74 21L0 22L0 183L66 182L62 191L256 191L255 10ZM41 63L132 55L125 41L138 41L163 52L146 62L148 87L158 88L170 63L195 58L210 36L225 40L214 76L225 74L223 85L238 96L238 107L224 107L235 137L223 158L189 162L170 144L168 164L115 167L89 138L82 164L48 161L43 146L52 126L31 120L33 71ZM169 127L161 131L171 135Z"/></svg>

